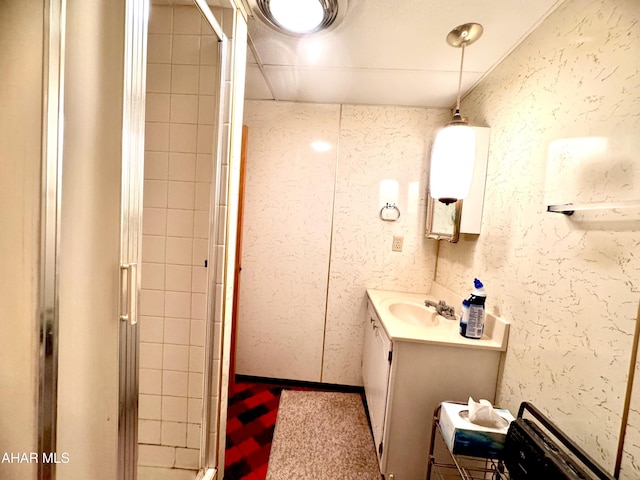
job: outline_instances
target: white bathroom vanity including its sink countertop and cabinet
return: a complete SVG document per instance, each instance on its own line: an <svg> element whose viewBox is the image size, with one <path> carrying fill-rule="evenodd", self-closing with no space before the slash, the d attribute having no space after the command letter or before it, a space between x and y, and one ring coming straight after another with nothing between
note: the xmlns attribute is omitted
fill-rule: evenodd
<svg viewBox="0 0 640 480"><path fill-rule="evenodd" d="M367 290L362 376L380 471L425 478L433 412L442 401L494 401L509 323L487 314L484 336L425 307L429 295Z"/></svg>

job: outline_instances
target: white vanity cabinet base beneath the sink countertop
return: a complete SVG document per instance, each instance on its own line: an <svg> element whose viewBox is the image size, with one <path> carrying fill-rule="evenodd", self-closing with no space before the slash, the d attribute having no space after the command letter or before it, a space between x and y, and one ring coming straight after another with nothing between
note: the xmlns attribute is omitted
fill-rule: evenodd
<svg viewBox="0 0 640 480"><path fill-rule="evenodd" d="M422 480L435 408L469 396L494 402L501 352L394 338L383 312L369 300L362 362L380 471L386 480Z"/></svg>

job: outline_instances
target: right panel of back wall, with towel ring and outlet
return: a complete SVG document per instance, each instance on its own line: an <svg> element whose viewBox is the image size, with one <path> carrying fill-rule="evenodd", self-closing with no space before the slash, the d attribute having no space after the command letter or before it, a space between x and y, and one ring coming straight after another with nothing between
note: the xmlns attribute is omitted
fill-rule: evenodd
<svg viewBox="0 0 640 480"><path fill-rule="evenodd" d="M427 165L442 109L342 108L322 379L359 385L366 289L428 292L435 246L424 236ZM397 222L379 218L397 185ZM393 191L393 190L392 190ZM391 251L394 235L402 252Z"/></svg>

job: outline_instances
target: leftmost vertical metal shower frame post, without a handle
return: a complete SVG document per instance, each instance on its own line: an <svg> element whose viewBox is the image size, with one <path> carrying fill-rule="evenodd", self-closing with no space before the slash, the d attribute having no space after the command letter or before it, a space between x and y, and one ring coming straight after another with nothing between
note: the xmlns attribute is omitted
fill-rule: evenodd
<svg viewBox="0 0 640 480"><path fill-rule="evenodd" d="M42 78L42 174L38 299L38 452L55 452L58 395L58 269L64 125L66 0L45 0ZM38 463L38 478L55 478Z"/></svg>

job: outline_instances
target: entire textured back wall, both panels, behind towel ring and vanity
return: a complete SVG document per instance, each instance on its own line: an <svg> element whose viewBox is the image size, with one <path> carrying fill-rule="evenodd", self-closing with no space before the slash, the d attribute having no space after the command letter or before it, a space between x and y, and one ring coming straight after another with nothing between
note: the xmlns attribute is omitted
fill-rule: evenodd
<svg viewBox="0 0 640 480"><path fill-rule="evenodd" d="M238 373L361 384L366 288L430 287L426 157L448 118L446 110L247 102ZM313 152L314 140L332 147ZM397 202L398 222L379 219L387 201ZM391 251L393 235L404 236L402 252Z"/></svg>

